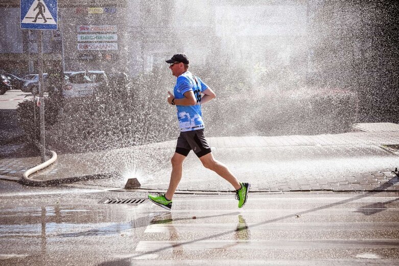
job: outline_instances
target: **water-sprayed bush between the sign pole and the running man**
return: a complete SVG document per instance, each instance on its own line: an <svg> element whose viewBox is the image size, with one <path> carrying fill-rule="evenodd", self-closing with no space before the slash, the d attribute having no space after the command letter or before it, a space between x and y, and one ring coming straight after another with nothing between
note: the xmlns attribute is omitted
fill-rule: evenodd
<svg viewBox="0 0 399 266"><path fill-rule="evenodd" d="M50 143L65 151L90 151L171 139L178 128L175 109L166 101L171 90L166 80L162 72L154 71L124 86L65 100Z"/></svg>

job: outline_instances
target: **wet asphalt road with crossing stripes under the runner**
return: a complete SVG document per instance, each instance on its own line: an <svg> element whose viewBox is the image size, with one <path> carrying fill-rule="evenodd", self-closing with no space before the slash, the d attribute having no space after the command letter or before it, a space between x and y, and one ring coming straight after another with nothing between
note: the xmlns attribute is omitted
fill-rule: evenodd
<svg viewBox="0 0 399 266"><path fill-rule="evenodd" d="M399 195L176 195L0 181L0 265L397 265Z"/></svg>

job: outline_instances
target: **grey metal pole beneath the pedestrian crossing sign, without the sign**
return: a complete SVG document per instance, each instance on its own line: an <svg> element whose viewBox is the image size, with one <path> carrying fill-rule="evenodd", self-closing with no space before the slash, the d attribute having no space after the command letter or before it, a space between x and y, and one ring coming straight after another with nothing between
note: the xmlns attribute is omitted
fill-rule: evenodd
<svg viewBox="0 0 399 266"><path fill-rule="evenodd" d="M43 31L39 31L39 103L40 103L40 155L45 162L45 129L44 129L44 86L43 86Z"/></svg>

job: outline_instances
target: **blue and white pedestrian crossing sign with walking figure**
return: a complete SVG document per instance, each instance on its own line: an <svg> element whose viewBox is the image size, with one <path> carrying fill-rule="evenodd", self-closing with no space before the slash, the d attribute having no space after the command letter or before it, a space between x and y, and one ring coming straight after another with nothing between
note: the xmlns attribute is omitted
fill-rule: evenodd
<svg viewBox="0 0 399 266"><path fill-rule="evenodd" d="M21 29L57 30L57 0L21 0Z"/></svg>

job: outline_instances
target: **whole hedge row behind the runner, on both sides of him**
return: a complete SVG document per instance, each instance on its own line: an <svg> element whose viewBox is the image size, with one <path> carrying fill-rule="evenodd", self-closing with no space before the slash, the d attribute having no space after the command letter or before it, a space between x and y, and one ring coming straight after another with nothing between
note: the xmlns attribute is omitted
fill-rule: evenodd
<svg viewBox="0 0 399 266"><path fill-rule="evenodd" d="M239 67L194 69L216 92L203 105L207 136L278 136L347 132L357 122L355 93L327 88L285 88L256 84ZM45 99L46 143L58 151L83 152L123 148L174 139L176 109L167 104L175 78L165 69L138 75L125 85L102 87L90 97L63 104ZM38 139L33 101L18 106L18 120L31 139Z"/></svg>

